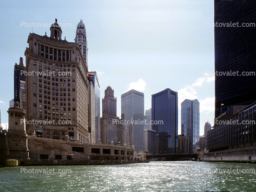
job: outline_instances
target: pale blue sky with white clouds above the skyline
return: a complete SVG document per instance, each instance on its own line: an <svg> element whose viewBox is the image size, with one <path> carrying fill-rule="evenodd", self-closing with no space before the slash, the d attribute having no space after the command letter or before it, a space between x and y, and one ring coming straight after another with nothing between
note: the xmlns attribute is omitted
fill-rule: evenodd
<svg viewBox="0 0 256 192"><path fill-rule="evenodd" d="M131 89L151 95L170 88L181 102L200 102L200 135L214 120L214 1L96 0L0 2L0 109L3 129L13 99L13 69L24 57L28 35L50 36L55 18L62 39L74 42L83 20L88 39L89 70L97 71L100 95L110 85L118 100Z"/></svg>

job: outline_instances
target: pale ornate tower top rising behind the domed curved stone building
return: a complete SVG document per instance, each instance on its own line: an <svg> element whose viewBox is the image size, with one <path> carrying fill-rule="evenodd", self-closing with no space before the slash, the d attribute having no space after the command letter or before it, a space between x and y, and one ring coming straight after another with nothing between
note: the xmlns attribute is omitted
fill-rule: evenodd
<svg viewBox="0 0 256 192"><path fill-rule="evenodd" d="M83 54L83 59L85 60L86 65L88 64L88 47L87 47L87 35L85 30L85 24L83 20L77 24L77 32L75 35L75 43L79 44L81 52Z"/></svg>

